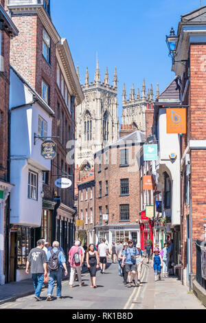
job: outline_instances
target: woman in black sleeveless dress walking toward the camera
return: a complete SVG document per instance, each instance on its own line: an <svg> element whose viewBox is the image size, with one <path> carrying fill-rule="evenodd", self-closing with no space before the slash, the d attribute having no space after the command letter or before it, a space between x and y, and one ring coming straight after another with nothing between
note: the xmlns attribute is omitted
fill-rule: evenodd
<svg viewBox="0 0 206 323"><path fill-rule="evenodd" d="M99 258L98 252L95 251L95 246L93 245L93 243L91 243L87 249L86 259L87 259L87 267L89 269L89 274L91 277L90 287L97 288L96 274L97 274L98 268L100 267L100 258Z"/></svg>

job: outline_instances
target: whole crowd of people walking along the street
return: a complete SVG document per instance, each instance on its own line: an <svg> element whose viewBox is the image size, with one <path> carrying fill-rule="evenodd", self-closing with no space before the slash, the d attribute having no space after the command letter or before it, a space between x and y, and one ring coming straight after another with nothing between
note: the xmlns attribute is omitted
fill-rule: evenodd
<svg viewBox="0 0 206 323"><path fill-rule="evenodd" d="M161 280L161 269L163 277L168 277L169 264L172 261L173 241L167 241L160 251L159 245L155 244L155 251L152 253L152 246L148 242L144 250L140 245L134 245L133 241L128 240L124 243L119 241L118 245L112 244L109 250L108 243L103 238L102 243L95 245L87 243L81 245L81 241L74 242L73 247L69 250L69 287L74 286L74 281L78 280L80 287L84 286L82 282L82 266L86 265L91 276L91 288L96 289L96 274L100 268L100 273L105 274L107 259L110 257L112 263L117 258L118 274L123 277L123 283L128 288L136 287L141 284L141 270L144 259L147 264L152 258L152 269L154 269L155 281ZM44 284L47 288L47 301L52 300L54 285L56 282L56 298L62 298L62 269L65 270L65 277L68 275L67 260L65 253L60 247L58 241L54 241L52 246L47 241L41 239L37 242L36 248L30 251L26 263L26 274L32 274L34 280L35 298L41 301L41 290ZM76 275L78 278L76 278ZM136 280L137 276L137 280Z"/></svg>

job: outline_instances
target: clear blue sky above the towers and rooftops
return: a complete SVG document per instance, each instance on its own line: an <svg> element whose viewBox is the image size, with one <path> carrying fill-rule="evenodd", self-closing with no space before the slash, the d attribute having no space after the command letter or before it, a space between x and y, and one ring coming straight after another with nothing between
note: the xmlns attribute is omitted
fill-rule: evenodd
<svg viewBox="0 0 206 323"><path fill-rule="evenodd" d="M206 5L206 0L202 0ZM165 35L173 26L176 32L182 14L200 6L200 0L52 0L52 21L61 37L67 38L73 62L84 82L87 66L93 81L96 53L101 80L108 66L109 82L114 69L118 76L118 115L122 115L122 89L135 84L141 89L152 83L156 93L174 78Z"/></svg>

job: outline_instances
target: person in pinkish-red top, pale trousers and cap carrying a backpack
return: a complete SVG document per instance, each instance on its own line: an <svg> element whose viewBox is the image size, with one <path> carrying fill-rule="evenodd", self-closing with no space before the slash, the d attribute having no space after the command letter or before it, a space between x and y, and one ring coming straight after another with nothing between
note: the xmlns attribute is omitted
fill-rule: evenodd
<svg viewBox="0 0 206 323"><path fill-rule="evenodd" d="M83 253L80 247L80 241L75 241L73 247L69 250L69 263L70 263L70 278L69 287L73 287L73 281L75 279L76 272L78 274L79 286L82 287L84 282L82 282L82 263L83 263Z"/></svg>

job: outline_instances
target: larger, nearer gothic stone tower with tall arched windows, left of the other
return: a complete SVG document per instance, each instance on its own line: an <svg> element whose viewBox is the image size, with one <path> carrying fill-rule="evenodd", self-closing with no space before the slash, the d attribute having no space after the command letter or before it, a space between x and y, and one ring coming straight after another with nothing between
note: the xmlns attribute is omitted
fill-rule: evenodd
<svg viewBox="0 0 206 323"><path fill-rule="evenodd" d="M79 75L79 71L77 73ZM113 85L108 84L107 67L104 82L100 82L100 67L97 61L94 82L89 82L87 68L82 90L84 101L76 109L76 170L87 172L93 169L94 153L118 139L116 69Z"/></svg>

